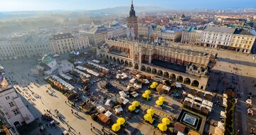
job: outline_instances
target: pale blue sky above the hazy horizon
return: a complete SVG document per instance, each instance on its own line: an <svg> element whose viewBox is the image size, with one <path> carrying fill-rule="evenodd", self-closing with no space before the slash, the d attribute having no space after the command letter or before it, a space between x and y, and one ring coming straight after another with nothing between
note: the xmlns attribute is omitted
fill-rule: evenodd
<svg viewBox="0 0 256 135"><path fill-rule="evenodd" d="M0 11L96 10L129 6L131 0L0 0ZM256 0L134 0L134 6L168 9L256 8Z"/></svg>

